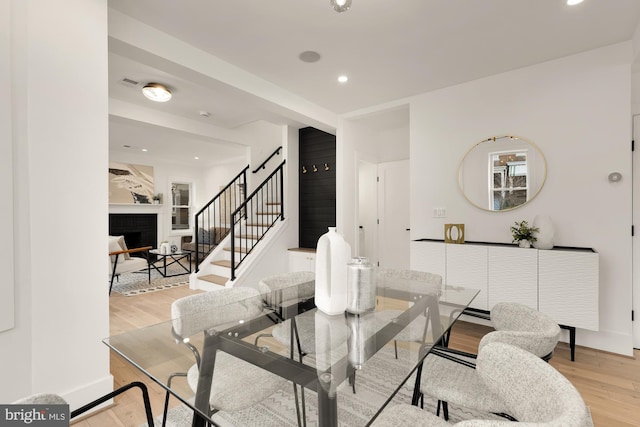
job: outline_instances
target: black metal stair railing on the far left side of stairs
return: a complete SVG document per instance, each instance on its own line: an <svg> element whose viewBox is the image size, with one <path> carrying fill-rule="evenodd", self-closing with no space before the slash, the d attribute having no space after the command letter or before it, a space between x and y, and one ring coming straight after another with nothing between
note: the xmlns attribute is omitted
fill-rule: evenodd
<svg viewBox="0 0 640 427"><path fill-rule="evenodd" d="M246 200L247 165L211 201L195 215L195 264L200 262L222 241L233 228L231 213Z"/></svg>

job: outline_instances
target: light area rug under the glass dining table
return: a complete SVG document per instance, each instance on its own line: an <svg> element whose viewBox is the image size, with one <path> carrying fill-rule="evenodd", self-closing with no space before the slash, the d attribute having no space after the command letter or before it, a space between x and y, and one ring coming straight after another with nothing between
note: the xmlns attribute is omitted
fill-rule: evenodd
<svg viewBox="0 0 640 427"><path fill-rule="evenodd" d="M365 426L375 415L381 402L384 402L387 395L392 391L391 384L397 384L397 375L403 372L402 362L403 350L399 349L399 359L396 360L392 348L382 349L378 355L367 363L367 368L358 371L356 376L356 393L351 391L351 386L345 381L338 388L338 425L339 426ZM413 393L413 378L410 378L403 386L389 406L399 403L411 403ZM307 390L306 419L307 426L318 425L318 400L317 395ZM425 396L424 410L435 414L436 401ZM187 427L191 425L193 411L185 405L171 409L167 415L167 426ZM474 418L504 420L492 414L478 413L466 408L449 405L449 422ZM219 412L213 416L214 421L221 427L296 427L296 409L293 396L293 387L287 385L275 395L265 399L262 403L243 411L233 413ZM162 416L154 421L157 425L162 425ZM143 424L141 427L145 427Z"/></svg>

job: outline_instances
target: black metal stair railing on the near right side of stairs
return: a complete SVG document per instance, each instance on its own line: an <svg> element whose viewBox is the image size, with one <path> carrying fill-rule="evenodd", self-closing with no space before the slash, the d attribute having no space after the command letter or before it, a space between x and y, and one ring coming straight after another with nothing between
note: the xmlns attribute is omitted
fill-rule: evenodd
<svg viewBox="0 0 640 427"><path fill-rule="evenodd" d="M231 214L231 280L242 261L276 221L284 220L284 165L286 160Z"/></svg>

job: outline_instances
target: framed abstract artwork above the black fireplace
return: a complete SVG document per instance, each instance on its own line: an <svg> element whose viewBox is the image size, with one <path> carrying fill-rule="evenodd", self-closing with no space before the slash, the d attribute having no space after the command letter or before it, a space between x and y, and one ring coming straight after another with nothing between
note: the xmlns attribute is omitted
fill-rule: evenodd
<svg viewBox="0 0 640 427"><path fill-rule="evenodd" d="M109 203L152 203L153 166L109 162Z"/></svg>

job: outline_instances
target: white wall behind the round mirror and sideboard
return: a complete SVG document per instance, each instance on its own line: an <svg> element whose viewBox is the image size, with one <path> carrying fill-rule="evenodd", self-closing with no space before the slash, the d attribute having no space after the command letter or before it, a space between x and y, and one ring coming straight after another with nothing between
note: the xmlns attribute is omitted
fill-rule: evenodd
<svg viewBox="0 0 640 427"><path fill-rule="evenodd" d="M510 243L514 221L548 214L556 245L600 254L600 332L579 331L578 344L622 354L632 352L630 61L622 43L411 100L412 239L441 239L444 223L464 223L468 241ZM526 206L483 212L460 193L458 164L503 134L540 147L547 180ZM608 182L612 171L621 182ZM447 218L431 218L436 206Z"/></svg>

